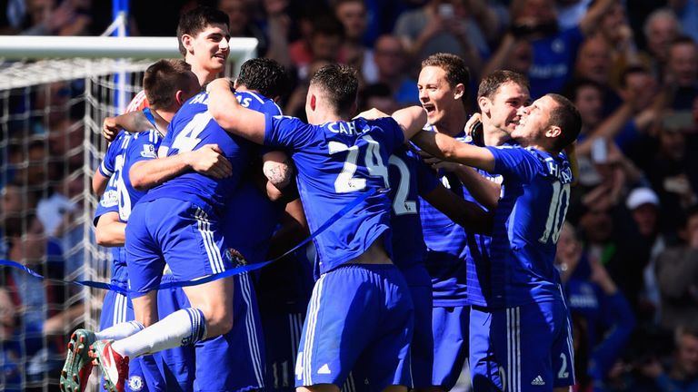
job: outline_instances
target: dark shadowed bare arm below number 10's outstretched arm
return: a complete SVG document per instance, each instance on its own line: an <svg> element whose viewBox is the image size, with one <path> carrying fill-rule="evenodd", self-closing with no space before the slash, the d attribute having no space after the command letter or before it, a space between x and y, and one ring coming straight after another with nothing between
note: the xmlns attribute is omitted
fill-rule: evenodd
<svg viewBox="0 0 698 392"><path fill-rule="evenodd" d="M420 196L465 230L482 234L492 233L492 213L484 211L472 201L464 201L454 192L447 190L443 184L437 183L433 191Z"/></svg>

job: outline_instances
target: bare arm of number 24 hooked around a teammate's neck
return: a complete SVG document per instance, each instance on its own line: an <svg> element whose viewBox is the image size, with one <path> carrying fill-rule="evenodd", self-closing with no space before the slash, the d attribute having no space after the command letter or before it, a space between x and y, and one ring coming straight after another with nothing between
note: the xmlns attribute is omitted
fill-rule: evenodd
<svg viewBox="0 0 698 392"><path fill-rule="evenodd" d="M263 113L244 108L237 102L228 79L219 78L208 84L208 112L225 131L257 144L264 144Z"/></svg>

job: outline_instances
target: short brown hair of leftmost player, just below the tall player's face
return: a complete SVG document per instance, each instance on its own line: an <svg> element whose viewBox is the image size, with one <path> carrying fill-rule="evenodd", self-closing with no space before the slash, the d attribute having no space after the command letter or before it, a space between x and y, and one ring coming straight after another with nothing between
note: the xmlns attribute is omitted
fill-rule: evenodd
<svg viewBox="0 0 698 392"><path fill-rule="evenodd" d="M145 70L143 89L145 98L154 109L166 109L175 103L177 90L185 90L191 83L192 66L184 60L158 60Z"/></svg>

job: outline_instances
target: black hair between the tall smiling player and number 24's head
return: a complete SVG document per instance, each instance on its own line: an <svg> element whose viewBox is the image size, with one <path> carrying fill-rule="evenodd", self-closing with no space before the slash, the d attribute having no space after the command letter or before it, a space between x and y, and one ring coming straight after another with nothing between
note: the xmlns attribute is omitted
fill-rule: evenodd
<svg viewBox="0 0 698 392"><path fill-rule="evenodd" d="M237 83L272 99L285 95L290 87L284 66L268 58L254 58L244 62Z"/></svg>

